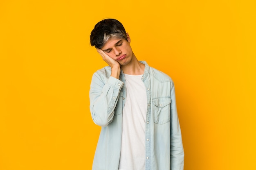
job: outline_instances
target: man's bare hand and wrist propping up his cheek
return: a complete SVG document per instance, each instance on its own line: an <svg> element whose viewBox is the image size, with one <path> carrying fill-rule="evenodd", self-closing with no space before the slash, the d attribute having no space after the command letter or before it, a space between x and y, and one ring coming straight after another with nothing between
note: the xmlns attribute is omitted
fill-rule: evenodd
<svg viewBox="0 0 256 170"><path fill-rule="evenodd" d="M101 55L102 59L106 63L108 63L108 65L111 67L111 76L119 79L120 71L121 71L121 68L120 68L121 65L117 61L112 59L110 56L108 56L108 54L106 54L101 49L97 48L97 52L99 52L99 54Z"/></svg>

